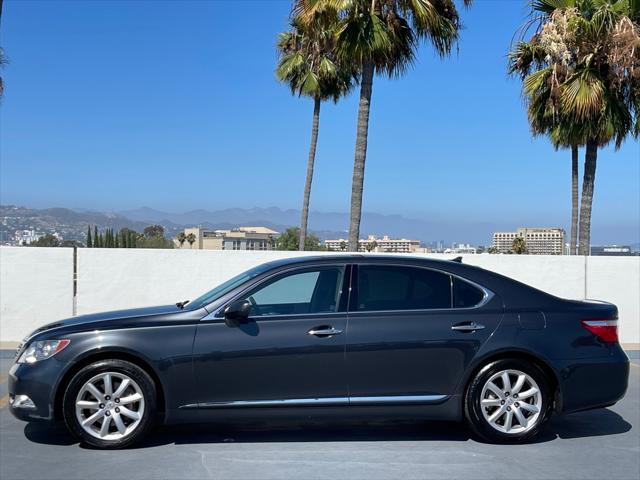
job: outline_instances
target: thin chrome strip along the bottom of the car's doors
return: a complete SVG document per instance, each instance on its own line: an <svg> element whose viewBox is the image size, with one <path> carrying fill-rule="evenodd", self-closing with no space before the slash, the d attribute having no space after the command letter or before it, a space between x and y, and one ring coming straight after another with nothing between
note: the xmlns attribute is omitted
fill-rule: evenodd
<svg viewBox="0 0 640 480"><path fill-rule="evenodd" d="M348 405L429 404L446 400L447 395L393 395L380 397L287 398L274 400L229 400L182 405L180 408L242 408L242 407L310 407Z"/></svg>

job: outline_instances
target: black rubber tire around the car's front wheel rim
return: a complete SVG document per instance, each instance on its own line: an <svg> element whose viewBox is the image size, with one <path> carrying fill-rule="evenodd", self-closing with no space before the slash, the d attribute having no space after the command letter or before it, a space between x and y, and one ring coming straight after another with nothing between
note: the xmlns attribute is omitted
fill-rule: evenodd
<svg viewBox="0 0 640 480"><path fill-rule="evenodd" d="M140 388L144 397L144 412L138 425L129 434L120 439L104 440L86 432L76 416L76 398L80 389L93 377L101 373L124 374ZM143 369L124 360L100 360L87 365L69 382L63 398L64 422L69 431L83 443L101 449L125 448L140 441L154 424L157 401L156 387L151 377Z"/></svg>

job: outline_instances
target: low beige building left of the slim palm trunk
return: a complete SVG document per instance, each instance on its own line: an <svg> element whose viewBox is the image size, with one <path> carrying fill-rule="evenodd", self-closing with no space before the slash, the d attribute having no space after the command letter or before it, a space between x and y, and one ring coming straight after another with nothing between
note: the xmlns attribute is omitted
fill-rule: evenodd
<svg viewBox="0 0 640 480"><path fill-rule="evenodd" d="M182 245L175 239L176 248L198 250L275 250L280 235L267 227L238 227L231 230L209 230L185 228L184 234L195 238L193 243L185 240Z"/></svg>

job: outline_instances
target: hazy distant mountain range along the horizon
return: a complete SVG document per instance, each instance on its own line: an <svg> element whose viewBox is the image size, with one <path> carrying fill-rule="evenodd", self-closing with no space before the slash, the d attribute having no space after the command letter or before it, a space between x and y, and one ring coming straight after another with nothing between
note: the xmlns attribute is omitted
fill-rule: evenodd
<svg viewBox="0 0 640 480"><path fill-rule="evenodd" d="M119 212L96 212L86 209L47 208L32 209L13 205L0 206L0 241L7 243L16 230L36 230L39 233L62 234L64 239L85 240L87 225L99 229L130 228L141 232L150 224L160 224L167 236L173 236L185 227L202 226L211 229L228 229L238 226L266 226L283 232L300 223L300 211L294 209L227 208L222 210L192 210L170 213L142 207ZM336 212L312 211L309 216L310 229L321 240L346 238L349 215ZM361 237L367 235L390 235L420 240L424 243L442 240L445 245L452 242L489 245L496 230L512 230L520 225L507 223L473 222L452 217L450 221L412 219L402 215L383 215L364 212L360 228ZM554 226L554 225L541 225ZM605 229L602 229L603 232ZM611 238L613 237L613 238ZM628 244L637 241L633 226L623 226L612 231L607 227L606 237L601 238L594 229L595 242ZM622 240L619 240L622 239ZM634 244L638 248L637 244Z"/></svg>

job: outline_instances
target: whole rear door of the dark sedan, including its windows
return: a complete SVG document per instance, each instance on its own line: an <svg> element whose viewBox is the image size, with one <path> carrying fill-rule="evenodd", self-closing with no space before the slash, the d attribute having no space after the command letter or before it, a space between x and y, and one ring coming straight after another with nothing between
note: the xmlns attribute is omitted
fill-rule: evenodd
<svg viewBox="0 0 640 480"><path fill-rule="evenodd" d="M491 292L429 268L360 264L352 288L346 355L352 404L442 400L502 314Z"/></svg>

